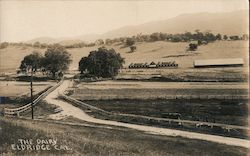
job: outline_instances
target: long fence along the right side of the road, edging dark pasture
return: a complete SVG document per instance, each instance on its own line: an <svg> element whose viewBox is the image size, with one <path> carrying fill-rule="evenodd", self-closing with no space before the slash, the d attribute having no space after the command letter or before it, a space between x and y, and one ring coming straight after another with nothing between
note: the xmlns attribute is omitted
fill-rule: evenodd
<svg viewBox="0 0 250 156"><path fill-rule="evenodd" d="M112 113L109 111L105 111L103 109L100 109L98 107L89 105L87 103L84 103L82 101L79 101L77 99L74 99L72 97L69 97L67 95L64 94L60 94L59 96L60 98L68 101L68 102L72 102L78 106L83 106L87 109L90 109L92 111L96 111L100 114L103 115L114 115L114 116L123 116L123 117L134 117L137 119L147 119L147 120L155 120L155 121L165 121L165 122L169 122L169 123L178 123L178 124L192 124L195 126L209 126L209 127L221 127L227 130L230 129L238 129L238 130L247 130L250 131L250 127L246 127L246 126L239 126L239 125L227 125L227 124L222 124L222 123L213 123L213 122L204 122L204 121L192 121L192 120L181 120L181 119L170 119L170 118L158 118L158 117L150 117L150 116L143 116L143 115L135 115L135 114L124 114L124 113Z"/></svg>

